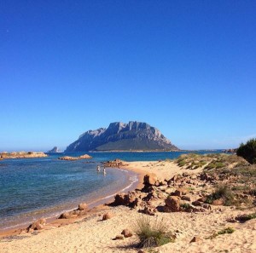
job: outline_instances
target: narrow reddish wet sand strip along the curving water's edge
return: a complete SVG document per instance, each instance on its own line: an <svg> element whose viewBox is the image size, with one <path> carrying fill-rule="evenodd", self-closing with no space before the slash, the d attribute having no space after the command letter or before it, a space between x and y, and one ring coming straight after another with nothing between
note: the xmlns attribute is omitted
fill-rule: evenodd
<svg viewBox="0 0 256 253"><path fill-rule="evenodd" d="M126 167L127 166L123 166L123 167L120 167L119 169L109 167L109 169L124 170L124 171L127 171L127 173L132 172L136 175L137 180L136 181L131 181L130 184L128 184L129 183L129 180L128 180L127 181L127 186L125 186L121 189L118 189L117 191L113 190L114 193L110 192L107 196L103 195L103 196L100 196L99 198L96 198L96 199L90 201L88 203L88 211L87 211L88 214L94 213L94 210L97 210L97 209L101 210L102 206L105 206L107 204L112 203L113 200L114 200L114 196L118 193L128 193L128 192L133 191L137 188L142 188L143 187L143 176L145 175L143 170L137 170L137 169L134 169L134 168L126 168ZM129 177L129 175L125 175L125 176ZM57 214L53 214L51 216L45 216L45 217L41 216L41 217L42 218L44 217L44 219L46 219L47 224L49 226L51 226L51 225L55 226L56 224L59 224L59 223L61 223L61 226L62 225L65 226L67 224L73 224L74 222L79 221L79 220L83 219L84 216L88 215L86 213L84 216L80 216L78 218L73 218L73 219L70 219L70 220L69 219L58 219L58 217L61 216L62 213L72 211L72 210L76 210L77 208L78 208L78 205L73 206L73 208L71 208L71 209L62 210L60 212L57 212ZM38 217L38 219L40 219L40 217ZM31 221L23 222L21 224L15 225L13 227L1 228L0 229L0 239L4 238L4 237L12 236L12 235L17 235L22 231L26 231L26 227L28 227L30 224L32 224L32 222L37 221L38 219L33 219Z"/></svg>

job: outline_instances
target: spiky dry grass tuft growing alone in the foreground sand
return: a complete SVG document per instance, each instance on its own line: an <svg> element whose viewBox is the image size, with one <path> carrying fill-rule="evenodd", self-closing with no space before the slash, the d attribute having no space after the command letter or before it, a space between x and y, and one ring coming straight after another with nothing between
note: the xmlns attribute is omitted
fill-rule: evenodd
<svg viewBox="0 0 256 253"><path fill-rule="evenodd" d="M150 221L148 216L142 216L137 220L135 232L139 238L139 247L157 247L174 242L175 235L166 231L163 220Z"/></svg>

